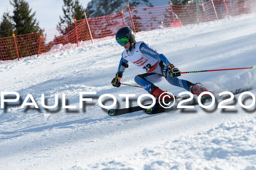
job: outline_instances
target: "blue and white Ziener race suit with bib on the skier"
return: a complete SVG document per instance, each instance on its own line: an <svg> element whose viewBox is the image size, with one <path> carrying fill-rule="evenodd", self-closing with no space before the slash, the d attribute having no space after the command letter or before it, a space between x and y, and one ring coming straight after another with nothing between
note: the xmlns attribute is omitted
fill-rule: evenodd
<svg viewBox="0 0 256 170"><path fill-rule="evenodd" d="M117 73L123 74L125 68L127 68L124 65L131 62L147 72L145 74L137 75L134 80L149 93L153 88L156 88L153 83L160 82L164 78L170 84L182 87L189 91L189 87L193 83L187 80L178 79L177 77L172 78L169 75L169 70L166 65L161 62L159 55L160 54L155 49L150 48L148 44L143 41L136 42L131 50L124 50L122 53Z"/></svg>

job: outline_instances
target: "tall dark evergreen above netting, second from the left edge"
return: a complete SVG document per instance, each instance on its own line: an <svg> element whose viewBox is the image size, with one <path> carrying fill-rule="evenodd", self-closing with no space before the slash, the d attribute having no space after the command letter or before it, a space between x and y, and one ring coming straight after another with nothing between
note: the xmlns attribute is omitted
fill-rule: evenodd
<svg viewBox="0 0 256 170"><path fill-rule="evenodd" d="M24 35L42 31L39 27L37 19L35 19L35 12L31 13L32 8L25 0L12 0L11 5L14 7L12 19L15 24L15 34Z"/></svg>

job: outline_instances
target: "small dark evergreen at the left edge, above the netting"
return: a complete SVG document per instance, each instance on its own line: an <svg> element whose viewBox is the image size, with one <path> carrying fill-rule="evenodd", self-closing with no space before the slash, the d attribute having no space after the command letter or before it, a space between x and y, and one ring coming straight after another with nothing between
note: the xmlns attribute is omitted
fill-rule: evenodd
<svg viewBox="0 0 256 170"><path fill-rule="evenodd" d="M12 36L12 30L15 25L10 16L10 12L4 12L2 22L0 23L0 38Z"/></svg>

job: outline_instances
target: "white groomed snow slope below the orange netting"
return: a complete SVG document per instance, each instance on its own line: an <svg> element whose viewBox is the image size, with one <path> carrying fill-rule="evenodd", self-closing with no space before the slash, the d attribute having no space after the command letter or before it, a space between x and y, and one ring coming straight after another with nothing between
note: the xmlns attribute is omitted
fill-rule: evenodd
<svg viewBox="0 0 256 170"><path fill-rule="evenodd" d="M256 65L256 14L165 28L136 34L180 68L196 71ZM114 88L113 79L123 51L114 37L55 54L26 57L0 64L1 92L31 94L39 109L9 106L0 109L0 169L256 169L256 106L242 108L238 96L234 109L200 106L165 114L135 112L110 117L98 104L103 94L146 93L141 88ZM123 83L142 70L129 64ZM253 87L256 70L183 74L209 90L228 91ZM157 83L174 95L184 91L165 80ZM79 92L93 101L79 108ZM62 94L76 108L45 110L41 94L54 104ZM245 96L244 96L245 97ZM105 99L105 98L104 98ZM244 98L243 98L244 99ZM112 100L104 100L106 105ZM245 105L252 99L244 100ZM217 106L217 105L216 105Z"/></svg>

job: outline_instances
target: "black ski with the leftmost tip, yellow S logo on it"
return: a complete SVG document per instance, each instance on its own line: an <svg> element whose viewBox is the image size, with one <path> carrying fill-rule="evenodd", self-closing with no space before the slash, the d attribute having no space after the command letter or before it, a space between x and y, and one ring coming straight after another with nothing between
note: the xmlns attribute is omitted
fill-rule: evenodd
<svg viewBox="0 0 256 170"><path fill-rule="evenodd" d="M180 97L176 96L176 99L178 99ZM185 98L184 98L185 99ZM172 100L167 100L166 102L170 102L173 101ZM150 104L145 104L144 106L150 106L152 103ZM159 102L155 103L155 107L160 106ZM136 111L143 111L144 108L140 107L140 106L133 106L133 107L129 107L129 108L119 108L119 109L110 109L108 111L108 115L109 116L119 116L119 115L124 115L124 114L128 114L128 113L132 113L132 112L136 112Z"/></svg>

